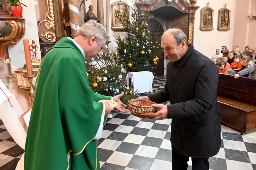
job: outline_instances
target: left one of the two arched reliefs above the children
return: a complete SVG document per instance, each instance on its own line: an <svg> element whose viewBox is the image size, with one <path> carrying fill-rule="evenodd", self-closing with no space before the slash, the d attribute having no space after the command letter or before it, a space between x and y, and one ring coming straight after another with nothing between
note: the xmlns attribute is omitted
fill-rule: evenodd
<svg viewBox="0 0 256 170"><path fill-rule="evenodd" d="M213 29L213 9L205 6L200 10L200 30L212 31Z"/></svg>

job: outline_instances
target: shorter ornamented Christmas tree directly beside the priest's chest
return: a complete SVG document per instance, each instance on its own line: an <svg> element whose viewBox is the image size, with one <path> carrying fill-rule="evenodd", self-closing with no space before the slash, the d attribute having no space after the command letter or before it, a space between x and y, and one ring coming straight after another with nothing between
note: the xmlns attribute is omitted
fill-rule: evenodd
<svg viewBox="0 0 256 170"><path fill-rule="evenodd" d="M119 56L106 48L96 57L86 63L89 84L95 93L105 96L116 96L124 92L120 100L127 104L128 100L136 99L137 92L126 83L126 70L124 62L120 62Z"/></svg>

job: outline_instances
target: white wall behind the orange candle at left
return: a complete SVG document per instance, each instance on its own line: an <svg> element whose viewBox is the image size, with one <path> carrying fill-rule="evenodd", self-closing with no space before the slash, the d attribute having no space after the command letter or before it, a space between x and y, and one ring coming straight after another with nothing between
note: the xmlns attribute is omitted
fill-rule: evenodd
<svg viewBox="0 0 256 170"><path fill-rule="evenodd" d="M22 0L22 3L27 5L23 6L23 18L25 18L25 35L23 38L29 39L29 43L32 44L32 40L37 40L39 50L37 51L37 59L41 59L41 52L39 46L38 28L37 28L37 17L35 13L34 0ZM11 58L11 71L14 74L15 69L21 68L26 63L25 53L23 46L23 38L17 41L16 45L9 45L9 57Z"/></svg>

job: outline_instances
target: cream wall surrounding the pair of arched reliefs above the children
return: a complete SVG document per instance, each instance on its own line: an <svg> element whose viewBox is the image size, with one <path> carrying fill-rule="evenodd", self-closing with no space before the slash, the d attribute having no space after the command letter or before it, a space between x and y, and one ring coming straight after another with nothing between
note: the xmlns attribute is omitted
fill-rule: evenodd
<svg viewBox="0 0 256 170"><path fill-rule="evenodd" d="M197 51L211 58L215 54L217 48L226 46L229 51L232 51L233 45L233 34L234 34L234 20L236 17L236 1L237 0L226 0L226 1L215 1L215 0L198 0L196 6L200 6L195 14L195 30L194 30L194 47ZM200 10L207 6L213 9L213 30L212 31L201 31L200 27ZM224 7L227 3L226 8L230 10L230 30L229 31L218 31L218 10Z"/></svg>

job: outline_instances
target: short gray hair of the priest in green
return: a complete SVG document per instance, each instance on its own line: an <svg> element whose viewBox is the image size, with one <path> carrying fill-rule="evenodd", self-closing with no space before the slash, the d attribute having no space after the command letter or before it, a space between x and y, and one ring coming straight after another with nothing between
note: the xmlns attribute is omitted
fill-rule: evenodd
<svg viewBox="0 0 256 170"><path fill-rule="evenodd" d="M107 43L110 40L110 36L106 32L102 24L94 20L89 20L85 22L83 26L80 27L80 29L77 31L77 33L75 34L75 37L79 35L87 38L91 38L94 35L97 36L96 42L98 45Z"/></svg>

